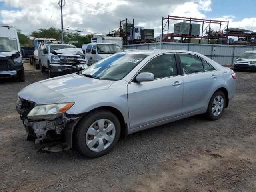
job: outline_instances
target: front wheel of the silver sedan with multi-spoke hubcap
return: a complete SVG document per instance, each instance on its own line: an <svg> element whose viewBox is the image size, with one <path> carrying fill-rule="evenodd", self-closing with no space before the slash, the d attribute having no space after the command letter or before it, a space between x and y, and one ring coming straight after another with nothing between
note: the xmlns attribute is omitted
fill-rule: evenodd
<svg viewBox="0 0 256 192"><path fill-rule="evenodd" d="M98 125L98 122L102 122L102 120L104 120L104 123L102 124L104 126ZM109 126L111 123L114 124L114 128L112 128L112 130L108 133L104 132L104 130L106 130L105 125ZM96 125L94 128L98 128L98 129L97 130L95 130L94 128L92 129L93 125ZM100 127L102 127L102 130L100 129ZM113 126L110 126L110 127L113 127ZM96 132L95 136L88 133L89 128L90 130L93 130L92 133ZM120 132L121 132L120 122L112 112L108 110L96 110L88 114L87 116L85 116L77 125L76 133L75 133L76 148L82 155L89 158L97 158L97 157L106 155L116 146L120 138ZM108 136L111 136L111 137L108 137ZM105 138L107 139L111 138L112 142L108 142ZM93 142L95 143L93 146L88 146L90 145L88 144L90 140L92 142L96 141L96 143Z"/></svg>

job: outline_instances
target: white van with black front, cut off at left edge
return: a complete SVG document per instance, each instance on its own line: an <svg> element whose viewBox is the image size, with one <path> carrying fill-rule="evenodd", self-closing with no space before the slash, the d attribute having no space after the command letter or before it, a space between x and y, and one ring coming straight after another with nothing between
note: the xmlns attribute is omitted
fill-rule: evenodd
<svg viewBox="0 0 256 192"><path fill-rule="evenodd" d="M0 78L18 76L25 81L22 56L16 29L0 23Z"/></svg>

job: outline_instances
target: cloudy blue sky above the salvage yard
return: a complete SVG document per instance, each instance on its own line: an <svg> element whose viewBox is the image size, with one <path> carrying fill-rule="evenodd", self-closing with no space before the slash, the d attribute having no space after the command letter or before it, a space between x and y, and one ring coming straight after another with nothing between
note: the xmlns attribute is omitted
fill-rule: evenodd
<svg viewBox="0 0 256 192"><path fill-rule="evenodd" d="M172 15L224 20L229 27L256 31L255 8L256 0L65 0L63 26L81 34L108 34L118 29L120 20L134 18L135 26L155 29L157 36L162 17ZM61 28L60 6L58 0L0 0L0 21L26 35L39 28ZM170 21L171 31L176 22Z"/></svg>

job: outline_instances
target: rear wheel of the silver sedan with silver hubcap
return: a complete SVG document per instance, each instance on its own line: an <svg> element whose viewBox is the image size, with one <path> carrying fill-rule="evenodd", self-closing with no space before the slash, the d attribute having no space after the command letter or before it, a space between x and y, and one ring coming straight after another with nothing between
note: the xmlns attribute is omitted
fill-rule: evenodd
<svg viewBox="0 0 256 192"><path fill-rule="evenodd" d="M218 101L217 101L218 100ZM224 112L226 106L226 96L222 91L217 91L212 95L206 111L206 118L217 120Z"/></svg>

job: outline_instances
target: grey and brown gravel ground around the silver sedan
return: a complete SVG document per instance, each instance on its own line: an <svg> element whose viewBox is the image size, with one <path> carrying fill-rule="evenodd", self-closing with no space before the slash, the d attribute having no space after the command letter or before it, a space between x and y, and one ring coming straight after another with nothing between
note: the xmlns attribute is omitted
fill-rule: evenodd
<svg viewBox="0 0 256 192"><path fill-rule="evenodd" d="M256 191L256 73L237 72L236 96L219 120L194 116L138 132L96 159L26 141L17 93L47 77L26 64L26 82L0 80L1 192Z"/></svg>

